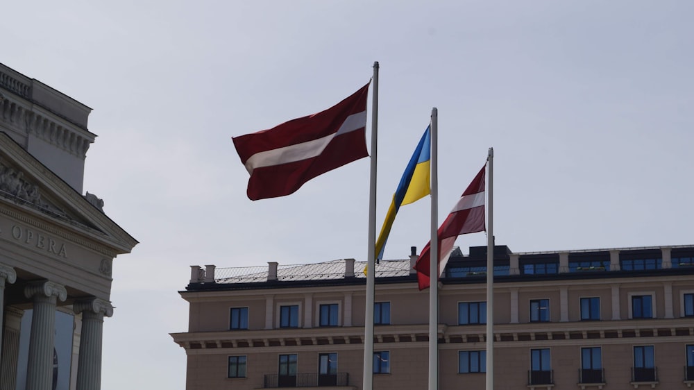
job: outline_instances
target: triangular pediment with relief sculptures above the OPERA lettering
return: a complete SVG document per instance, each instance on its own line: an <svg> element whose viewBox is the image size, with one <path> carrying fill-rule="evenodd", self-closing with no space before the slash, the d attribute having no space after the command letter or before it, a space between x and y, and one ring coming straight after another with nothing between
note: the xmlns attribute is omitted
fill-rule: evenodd
<svg viewBox="0 0 694 390"><path fill-rule="evenodd" d="M103 213L103 202L83 196L0 132L0 205L6 203L28 217L42 219L86 235L110 248L129 253L137 241Z"/></svg>

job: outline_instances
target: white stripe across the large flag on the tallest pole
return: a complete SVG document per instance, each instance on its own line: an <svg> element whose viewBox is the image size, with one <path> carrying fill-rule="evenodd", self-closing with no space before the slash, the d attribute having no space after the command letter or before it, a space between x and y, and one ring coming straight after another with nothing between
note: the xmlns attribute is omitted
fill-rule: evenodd
<svg viewBox="0 0 694 390"><path fill-rule="evenodd" d="M337 137L337 135L346 134L364 127L366 127L366 111L357 112L345 119L342 126L337 130L337 133L302 142L301 144L255 153L246 160L246 171L248 171L248 173L253 173L253 169L255 168L271 167L272 165L287 164L288 162L314 158L323 153L325 146L328 146L330 141Z"/></svg>

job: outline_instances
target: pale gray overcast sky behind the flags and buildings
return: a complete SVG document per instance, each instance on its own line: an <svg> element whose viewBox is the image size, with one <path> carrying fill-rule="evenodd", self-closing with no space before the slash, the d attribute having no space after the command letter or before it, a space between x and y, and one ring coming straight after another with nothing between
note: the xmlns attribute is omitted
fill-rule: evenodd
<svg viewBox="0 0 694 390"><path fill-rule="evenodd" d="M497 244L693 244L693 12L690 0L3 4L0 62L94 108L85 190L141 242L114 263L102 388L185 389L169 332L187 330L189 265L365 260L369 159L251 202L230 138L330 107L373 61L378 228L437 107L439 221L492 146ZM385 258L427 243L429 210L400 209Z"/></svg>

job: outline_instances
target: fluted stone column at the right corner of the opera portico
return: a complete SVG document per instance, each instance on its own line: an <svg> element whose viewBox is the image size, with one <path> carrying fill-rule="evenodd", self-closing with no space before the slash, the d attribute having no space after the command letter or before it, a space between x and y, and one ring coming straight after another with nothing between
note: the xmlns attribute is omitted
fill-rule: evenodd
<svg viewBox="0 0 694 390"><path fill-rule="evenodd" d="M113 306L108 300L91 298L76 301L72 308L75 314L82 314L77 390L99 390L101 389L103 316L112 316Z"/></svg>

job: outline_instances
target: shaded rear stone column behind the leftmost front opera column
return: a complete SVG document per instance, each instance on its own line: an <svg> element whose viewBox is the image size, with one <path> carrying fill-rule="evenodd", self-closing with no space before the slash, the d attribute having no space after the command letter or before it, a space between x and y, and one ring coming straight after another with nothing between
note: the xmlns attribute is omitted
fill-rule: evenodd
<svg viewBox="0 0 694 390"><path fill-rule="evenodd" d="M17 357L19 357L19 330L24 310L5 308L5 332L3 332L2 359L0 359L0 390L17 387Z"/></svg>

